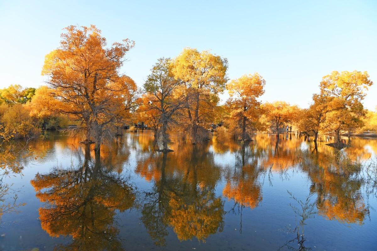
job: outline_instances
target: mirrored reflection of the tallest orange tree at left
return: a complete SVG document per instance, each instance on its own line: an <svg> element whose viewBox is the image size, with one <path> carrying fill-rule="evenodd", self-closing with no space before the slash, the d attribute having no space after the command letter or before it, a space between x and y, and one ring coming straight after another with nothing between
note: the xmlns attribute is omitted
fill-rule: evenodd
<svg viewBox="0 0 377 251"><path fill-rule="evenodd" d="M53 237L72 236L55 250L122 249L114 218L116 210L132 207L135 194L127 180L102 166L99 154L92 160L86 147L82 166L38 173L31 184L46 202L39 208L43 230Z"/></svg>

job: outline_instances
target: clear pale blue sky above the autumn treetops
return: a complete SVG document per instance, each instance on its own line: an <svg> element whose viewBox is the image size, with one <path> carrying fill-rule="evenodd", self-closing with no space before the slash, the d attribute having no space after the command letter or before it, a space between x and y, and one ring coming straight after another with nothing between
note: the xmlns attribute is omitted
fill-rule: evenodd
<svg viewBox="0 0 377 251"><path fill-rule="evenodd" d="M322 76L368 71L377 105L377 1L3 1L0 0L0 88L38 87L44 55L62 28L95 24L108 44L136 45L122 69L142 85L159 57L184 47L228 58L228 76L257 71L262 100L307 107ZM222 98L226 98L226 94Z"/></svg>

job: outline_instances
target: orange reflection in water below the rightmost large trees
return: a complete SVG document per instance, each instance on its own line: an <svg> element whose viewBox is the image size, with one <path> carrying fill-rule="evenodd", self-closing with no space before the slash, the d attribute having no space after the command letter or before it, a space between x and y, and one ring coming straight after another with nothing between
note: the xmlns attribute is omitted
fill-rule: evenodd
<svg viewBox="0 0 377 251"><path fill-rule="evenodd" d="M302 169L312 182L310 192L317 194L318 214L342 223L362 224L369 209L365 206L360 175L362 163L343 151L324 145L304 152Z"/></svg>

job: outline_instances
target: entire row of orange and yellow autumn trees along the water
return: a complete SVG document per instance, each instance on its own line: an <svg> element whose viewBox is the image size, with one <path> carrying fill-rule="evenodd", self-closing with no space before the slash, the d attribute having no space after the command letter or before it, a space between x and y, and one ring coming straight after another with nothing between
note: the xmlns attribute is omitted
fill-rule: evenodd
<svg viewBox="0 0 377 251"><path fill-rule="evenodd" d="M284 101L262 103L266 81L258 73L228 81L226 58L209 51L185 48L176 58L160 58L153 65L142 89L120 73L126 53L134 42L128 39L107 46L95 26L65 28L60 47L45 57L42 75L48 86L38 89L11 85L1 90L1 122L15 128L22 124L27 134L40 129L77 125L75 134L83 143L101 143L121 134L123 125L144 122L155 129L161 151L169 151L172 134L193 144L210 137L213 124L224 125L234 138L248 141L255 131L294 127L314 135L363 128L377 129L375 113L363 108L362 100L372 85L360 71L333 71L320 82L308 109ZM219 105L219 93L230 97ZM365 119L367 116L368 119ZM374 124L373 124L374 123ZM284 128L284 129L283 129Z"/></svg>

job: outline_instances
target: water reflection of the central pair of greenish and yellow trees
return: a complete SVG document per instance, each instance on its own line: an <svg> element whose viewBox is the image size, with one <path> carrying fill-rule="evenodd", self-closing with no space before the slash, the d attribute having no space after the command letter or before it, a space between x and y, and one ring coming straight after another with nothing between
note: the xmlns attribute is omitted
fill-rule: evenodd
<svg viewBox="0 0 377 251"><path fill-rule="evenodd" d="M166 245L168 227L181 241L202 242L224 227L224 202L215 195L220 172L202 147L185 145L179 154L150 152L138 161L136 172L153 178L141 219L156 245Z"/></svg>

